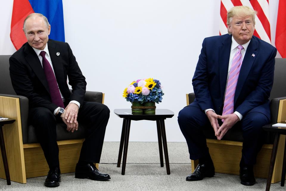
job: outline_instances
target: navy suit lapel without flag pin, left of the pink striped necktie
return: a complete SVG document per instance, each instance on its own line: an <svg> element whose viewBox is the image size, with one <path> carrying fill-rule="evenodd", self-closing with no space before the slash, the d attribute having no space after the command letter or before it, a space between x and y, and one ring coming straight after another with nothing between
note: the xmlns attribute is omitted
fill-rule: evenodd
<svg viewBox="0 0 286 191"><path fill-rule="evenodd" d="M220 95L224 96L226 91L226 80L229 68L229 55L231 48L231 35L229 35L219 47L219 68L220 68Z"/></svg>

